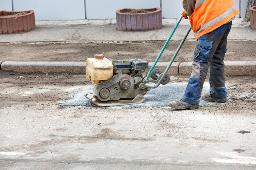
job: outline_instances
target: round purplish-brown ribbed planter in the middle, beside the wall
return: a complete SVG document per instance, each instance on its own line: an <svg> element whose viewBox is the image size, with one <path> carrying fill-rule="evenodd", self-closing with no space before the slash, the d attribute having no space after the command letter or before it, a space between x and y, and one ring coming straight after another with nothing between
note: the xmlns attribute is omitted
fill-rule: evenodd
<svg viewBox="0 0 256 170"><path fill-rule="evenodd" d="M147 11L146 13L131 13L132 10L138 9L124 8L116 11L117 30L144 31L163 26L161 8L139 9Z"/></svg>

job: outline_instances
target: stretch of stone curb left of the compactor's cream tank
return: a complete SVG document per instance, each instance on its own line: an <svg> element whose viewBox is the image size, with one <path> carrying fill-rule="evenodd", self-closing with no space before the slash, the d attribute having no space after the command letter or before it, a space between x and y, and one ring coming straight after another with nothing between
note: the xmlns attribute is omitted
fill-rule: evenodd
<svg viewBox="0 0 256 170"><path fill-rule="evenodd" d="M85 74L85 62L23 62L5 61L1 71L16 73L73 73Z"/></svg>

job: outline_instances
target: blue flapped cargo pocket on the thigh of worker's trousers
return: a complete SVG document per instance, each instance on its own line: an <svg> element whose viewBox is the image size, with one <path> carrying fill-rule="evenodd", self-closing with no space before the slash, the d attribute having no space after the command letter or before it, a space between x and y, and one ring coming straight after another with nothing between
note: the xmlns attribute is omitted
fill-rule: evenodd
<svg viewBox="0 0 256 170"><path fill-rule="evenodd" d="M194 61L207 62L212 48L212 41L198 40L194 52Z"/></svg>

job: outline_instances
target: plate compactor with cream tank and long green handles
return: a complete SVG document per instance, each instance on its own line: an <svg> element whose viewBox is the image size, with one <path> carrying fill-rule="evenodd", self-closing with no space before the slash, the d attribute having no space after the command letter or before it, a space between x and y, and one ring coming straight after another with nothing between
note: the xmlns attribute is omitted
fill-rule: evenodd
<svg viewBox="0 0 256 170"><path fill-rule="evenodd" d="M86 60L86 78L91 80L95 85L93 93L85 94L84 96L100 107L138 104L145 101L144 95L151 88L154 89L160 84L167 84L170 80L167 71L187 38L191 27L182 39L180 46L173 55L165 72L162 73L161 70L154 69L154 67L172 38L181 19L182 16L178 20L148 74L145 72L145 70L148 69L148 62L141 59L135 58L129 59L129 61L110 61L104 58L102 54L96 54L94 58L88 58ZM149 77L152 79L148 79Z"/></svg>

